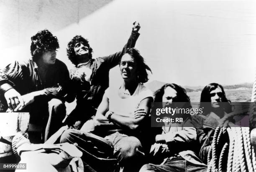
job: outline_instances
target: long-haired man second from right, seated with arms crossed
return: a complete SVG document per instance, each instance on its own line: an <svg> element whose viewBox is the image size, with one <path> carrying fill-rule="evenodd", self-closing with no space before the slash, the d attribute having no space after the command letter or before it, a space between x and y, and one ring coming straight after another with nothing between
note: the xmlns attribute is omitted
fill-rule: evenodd
<svg viewBox="0 0 256 172"><path fill-rule="evenodd" d="M166 84L156 92L155 102L162 102L163 108L178 107L190 109L186 90L176 84ZM178 102L178 103L176 103ZM162 127L162 134L156 135L156 143L151 147L153 160L165 158L156 164L144 165L140 172L205 172L207 165L197 157L197 132L192 127L189 113L176 113L183 122L170 122ZM167 125L167 126L166 126ZM156 161L156 160L154 160Z"/></svg>

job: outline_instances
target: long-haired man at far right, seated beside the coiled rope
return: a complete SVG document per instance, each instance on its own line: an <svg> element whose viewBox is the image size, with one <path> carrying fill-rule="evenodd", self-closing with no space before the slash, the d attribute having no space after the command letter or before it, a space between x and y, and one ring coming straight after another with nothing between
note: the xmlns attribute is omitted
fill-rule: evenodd
<svg viewBox="0 0 256 172"><path fill-rule="evenodd" d="M231 112L231 105L230 100L226 98L223 87L217 83L205 86L201 93L200 102L200 108L204 107L204 113L193 117L192 122L197 127L197 135L201 145L199 157L207 164L207 155L215 129L223 117Z"/></svg>

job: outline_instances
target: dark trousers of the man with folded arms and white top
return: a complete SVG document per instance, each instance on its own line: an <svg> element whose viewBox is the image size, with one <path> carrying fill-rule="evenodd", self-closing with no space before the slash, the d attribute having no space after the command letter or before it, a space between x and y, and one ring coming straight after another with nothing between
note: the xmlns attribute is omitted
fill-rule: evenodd
<svg viewBox="0 0 256 172"><path fill-rule="evenodd" d="M62 135L60 142L69 142L69 143L77 143L80 150L82 150L83 155L88 155L88 149L90 149L88 146L88 133L82 132L80 130L75 129L69 129L66 130ZM128 136L124 134L120 134L119 132L115 132L111 135L103 137L98 137L97 140L106 140L105 142L109 142L113 146L113 152L107 153L107 150L99 150L97 152L98 155L100 155L99 152L105 152L105 154L108 155L100 155L103 158L116 158L117 159L117 165L118 168L123 168L124 171L127 172L133 172L138 171L141 166L143 165L145 155L141 151L142 146L141 142L138 140L138 138L133 136ZM95 144L94 140L90 140L92 144ZM98 147L100 149L100 147ZM97 156L97 155L96 155ZM83 156L84 157L84 156ZM99 158L101 158L99 157ZM86 157L82 158L84 160ZM88 160L84 160L85 162ZM90 161L90 160L89 160ZM87 162L86 162L87 163ZM111 162L110 162L111 163ZM95 169L94 163L92 164L92 168ZM96 166L101 166L100 163L96 163ZM97 168L96 167L96 168ZM108 168L104 165L102 165L102 170L106 171Z"/></svg>

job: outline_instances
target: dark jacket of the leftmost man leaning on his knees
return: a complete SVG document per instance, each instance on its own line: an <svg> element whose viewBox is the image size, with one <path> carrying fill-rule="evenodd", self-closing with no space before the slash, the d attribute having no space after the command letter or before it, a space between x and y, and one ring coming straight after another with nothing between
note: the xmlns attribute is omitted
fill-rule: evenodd
<svg viewBox="0 0 256 172"><path fill-rule="evenodd" d="M70 91L70 82L67 66L58 59L54 65L49 66L45 81L40 79L38 66L32 59L23 62L15 61L0 70L1 102L5 102L3 95L11 88L18 91L20 95L44 90L45 95L41 97L46 100L59 98L71 102L72 100L67 96ZM3 85L5 83L8 85Z"/></svg>

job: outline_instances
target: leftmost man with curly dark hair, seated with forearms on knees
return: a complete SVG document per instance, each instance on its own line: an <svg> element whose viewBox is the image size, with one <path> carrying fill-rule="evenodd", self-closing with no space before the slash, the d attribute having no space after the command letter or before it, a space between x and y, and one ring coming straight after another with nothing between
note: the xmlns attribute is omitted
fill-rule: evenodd
<svg viewBox="0 0 256 172"><path fill-rule="evenodd" d="M0 98L3 111L29 112L30 123L45 127L45 140L62 124L64 102L70 102L69 71L56 59L57 37L48 30L31 37L31 56L0 70ZM2 106L2 105L1 105Z"/></svg>

